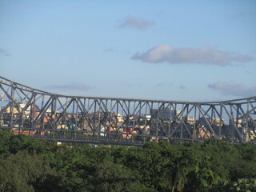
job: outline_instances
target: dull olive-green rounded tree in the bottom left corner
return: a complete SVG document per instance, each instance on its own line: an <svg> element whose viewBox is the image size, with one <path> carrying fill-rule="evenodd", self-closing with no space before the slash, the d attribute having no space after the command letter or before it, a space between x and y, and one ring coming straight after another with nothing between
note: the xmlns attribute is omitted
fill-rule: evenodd
<svg viewBox="0 0 256 192"><path fill-rule="evenodd" d="M0 160L1 191L34 191L34 185L50 174L42 155L19 151Z"/></svg>

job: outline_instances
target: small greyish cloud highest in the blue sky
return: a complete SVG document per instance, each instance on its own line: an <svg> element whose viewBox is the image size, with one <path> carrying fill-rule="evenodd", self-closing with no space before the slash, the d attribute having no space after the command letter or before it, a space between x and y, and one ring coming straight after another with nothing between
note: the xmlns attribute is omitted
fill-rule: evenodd
<svg viewBox="0 0 256 192"><path fill-rule="evenodd" d="M145 18L136 18L133 16L127 16L119 25L121 28L135 28L138 30L146 30L150 26L154 26L154 22L150 22Z"/></svg>

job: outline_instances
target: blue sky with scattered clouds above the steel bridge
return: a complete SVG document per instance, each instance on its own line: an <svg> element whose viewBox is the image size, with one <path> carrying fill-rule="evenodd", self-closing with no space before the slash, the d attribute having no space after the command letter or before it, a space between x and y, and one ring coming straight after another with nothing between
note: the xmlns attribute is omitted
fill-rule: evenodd
<svg viewBox="0 0 256 192"><path fill-rule="evenodd" d="M0 0L0 75L58 94L256 95L256 1Z"/></svg>

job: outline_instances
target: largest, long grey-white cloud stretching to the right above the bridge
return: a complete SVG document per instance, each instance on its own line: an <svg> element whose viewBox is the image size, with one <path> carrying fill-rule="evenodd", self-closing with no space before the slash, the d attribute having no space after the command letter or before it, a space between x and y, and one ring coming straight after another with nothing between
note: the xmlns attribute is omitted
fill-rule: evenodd
<svg viewBox="0 0 256 192"><path fill-rule="evenodd" d="M132 57L142 62L170 64L202 64L216 66L230 66L232 62L250 62L253 60L248 55L232 54L229 51L218 50L214 46L198 48L178 48L169 45L160 45L147 50L145 53L136 53Z"/></svg>

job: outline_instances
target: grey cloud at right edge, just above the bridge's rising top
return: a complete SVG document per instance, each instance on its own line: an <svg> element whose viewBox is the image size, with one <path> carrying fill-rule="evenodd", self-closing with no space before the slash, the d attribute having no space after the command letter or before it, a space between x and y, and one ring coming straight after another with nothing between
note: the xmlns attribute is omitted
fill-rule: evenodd
<svg viewBox="0 0 256 192"><path fill-rule="evenodd" d="M239 97L251 97L256 95L256 86L247 87L244 84L239 84L234 81L230 82L215 82L209 84L210 89L218 90L223 95L232 95Z"/></svg>

